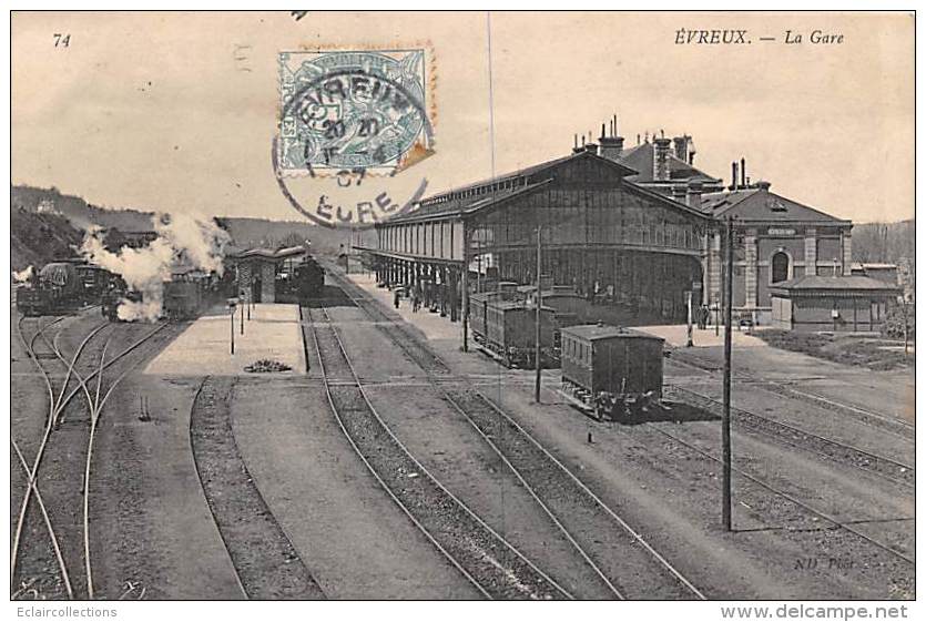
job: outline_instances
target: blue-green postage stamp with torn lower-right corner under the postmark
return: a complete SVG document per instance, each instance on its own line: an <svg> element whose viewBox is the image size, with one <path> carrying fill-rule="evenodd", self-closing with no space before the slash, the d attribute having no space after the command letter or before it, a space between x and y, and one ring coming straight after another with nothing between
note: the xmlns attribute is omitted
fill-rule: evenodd
<svg viewBox="0 0 926 622"><path fill-rule="evenodd" d="M424 50L279 54L284 175L394 174L431 149Z"/></svg>

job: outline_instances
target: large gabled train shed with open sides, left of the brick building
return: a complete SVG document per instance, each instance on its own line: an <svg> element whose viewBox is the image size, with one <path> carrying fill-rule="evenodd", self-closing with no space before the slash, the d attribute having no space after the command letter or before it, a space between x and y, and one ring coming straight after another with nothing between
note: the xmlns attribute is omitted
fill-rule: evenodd
<svg viewBox="0 0 926 622"><path fill-rule="evenodd" d="M628 181L637 171L597 149L430 196L378 223L377 246L365 249L377 281L437 292L457 320L469 293L536 281L540 227L541 274L552 284L628 318L683 322L684 293L700 287L711 261L702 183L673 198Z"/></svg>

